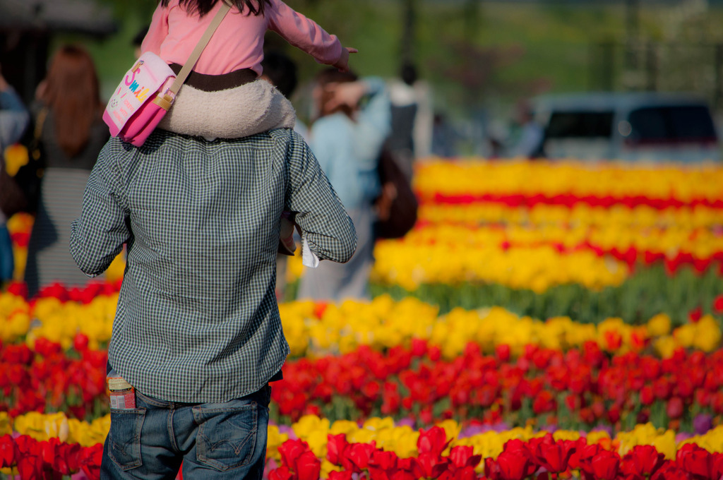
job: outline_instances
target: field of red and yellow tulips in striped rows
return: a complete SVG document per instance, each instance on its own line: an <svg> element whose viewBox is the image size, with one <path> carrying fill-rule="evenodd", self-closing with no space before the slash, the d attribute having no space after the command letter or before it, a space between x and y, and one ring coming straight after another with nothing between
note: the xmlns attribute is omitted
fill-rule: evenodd
<svg viewBox="0 0 723 480"><path fill-rule="evenodd" d="M723 168L429 160L414 187L372 300L280 304L266 479L723 478ZM0 478L99 478L122 269L0 291Z"/></svg>

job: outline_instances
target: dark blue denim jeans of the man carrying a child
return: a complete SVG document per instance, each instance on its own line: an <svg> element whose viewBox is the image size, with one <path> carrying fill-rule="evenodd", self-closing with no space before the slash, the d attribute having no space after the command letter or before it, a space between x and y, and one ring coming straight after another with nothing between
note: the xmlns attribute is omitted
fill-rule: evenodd
<svg viewBox="0 0 723 480"><path fill-rule="evenodd" d="M111 409L101 480L260 480L266 461L268 384L224 403L175 403L136 393L136 407Z"/></svg>

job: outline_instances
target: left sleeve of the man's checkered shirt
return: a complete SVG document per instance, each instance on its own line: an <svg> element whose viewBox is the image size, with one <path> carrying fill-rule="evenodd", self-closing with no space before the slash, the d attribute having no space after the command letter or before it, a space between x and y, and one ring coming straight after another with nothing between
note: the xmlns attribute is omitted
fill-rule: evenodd
<svg viewBox="0 0 723 480"><path fill-rule="evenodd" d="M129 211L113 141L100 151L85 187L80 218L71 225L70 253L90 277L105 272L130 240Z"/></svg>

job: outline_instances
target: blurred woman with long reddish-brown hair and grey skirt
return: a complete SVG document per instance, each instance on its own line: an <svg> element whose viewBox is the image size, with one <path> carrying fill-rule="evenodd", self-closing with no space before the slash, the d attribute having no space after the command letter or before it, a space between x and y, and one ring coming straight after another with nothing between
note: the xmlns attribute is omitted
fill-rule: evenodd
<svg viewBox="0 0 723 480"><path fill-rule="evenodd" d="M30 296L56 281L68 287L88 281L68 251L70 224L80 215L90 170L109 137L101 119L95 65L80 46L59 48L38 85L36 100L33 110L46 168L27 247L25 282Z"/></svg>

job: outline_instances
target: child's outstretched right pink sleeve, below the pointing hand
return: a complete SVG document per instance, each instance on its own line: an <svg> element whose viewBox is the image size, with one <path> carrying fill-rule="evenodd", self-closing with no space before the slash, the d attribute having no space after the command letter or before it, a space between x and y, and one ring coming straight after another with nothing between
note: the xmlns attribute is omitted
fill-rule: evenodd
<svg viewBox="0 0 723 480"><path fill-rule="evenodd" d="M288 43L309 53L320 64L335 64L341 56L341 41L330 35L317 22L311 20L281 0L271 0L268 15L269 29L281 35Z"/></svg>

